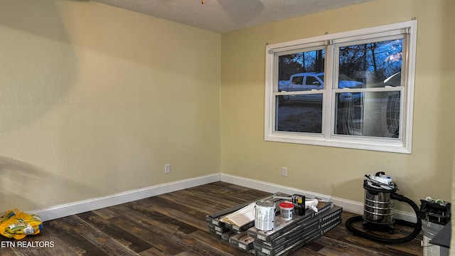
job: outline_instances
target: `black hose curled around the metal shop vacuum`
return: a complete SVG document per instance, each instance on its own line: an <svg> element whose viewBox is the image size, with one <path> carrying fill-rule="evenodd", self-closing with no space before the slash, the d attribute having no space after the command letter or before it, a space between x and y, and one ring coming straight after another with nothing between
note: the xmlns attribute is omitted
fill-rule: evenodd
<svg viewBox="0 0 455 256"><path fill-rule="evenodd" d="M422 230L422 220L420 219L420 215L419 215L419 207L417 206L417 204L415 204L409 198L402 196L400 194L397 194L395 192L390 194L390 198L396 199L397 201L400 201L400 202L405 202L405 203L409 204L412 207L412 209L414 209L415 215L417 216L417 223L410 223L405 220L397 220L397 222L400 222L400 224L402 224L402 225L414 227L414 231L412 231L412 233L410 233L410 235L407 235L404 238L395 238L395 239L380 238L378 236L371 235L369 233L365 233L363 231L353 228L353 223L358 222L358 221L363 221L362 216L355 216L355 217L352 217L352 218L349 218L348 220L346 220L346 228L348 228L348 230L350 232L354 233L355 235L360 235L361 237L367 238L368 240L373 240L375 242L382 242L382 243L389 244L389 245L409 242L410 240L416 238L417 235L419 235L420 230Z"/></svg>

